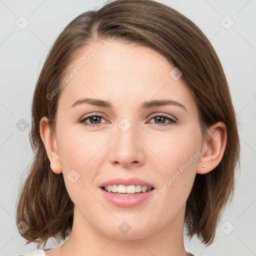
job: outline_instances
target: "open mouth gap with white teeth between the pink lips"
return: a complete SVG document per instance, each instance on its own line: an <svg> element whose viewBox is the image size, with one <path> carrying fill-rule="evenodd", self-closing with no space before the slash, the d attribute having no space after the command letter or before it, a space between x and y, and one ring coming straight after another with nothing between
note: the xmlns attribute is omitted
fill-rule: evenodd
<svg viewBox="0 0 256 256"><path fill-rule="evenodd" d="M150 190L153 190L154 187L152 186L145 186L145 185L123 185L123 184L113 184L113 185L106 185L101 186L101 189L113 194L118 195L136 195L141 193L146 193Z"/></svg>

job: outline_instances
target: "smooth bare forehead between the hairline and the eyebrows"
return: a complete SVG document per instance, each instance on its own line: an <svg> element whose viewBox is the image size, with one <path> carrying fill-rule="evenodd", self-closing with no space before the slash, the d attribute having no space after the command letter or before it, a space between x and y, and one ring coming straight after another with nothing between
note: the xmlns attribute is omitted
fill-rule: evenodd
<svg viewBox="0 0 256 256"><path fill-rule="evenodd" d="M94 97L120 107L169 98L195 110L182 76L173 79L173 68L163 55L146 46L121 41L91 42L69 65L68 82L61 89L59 101L71 105L80 97Z"/></svg>

